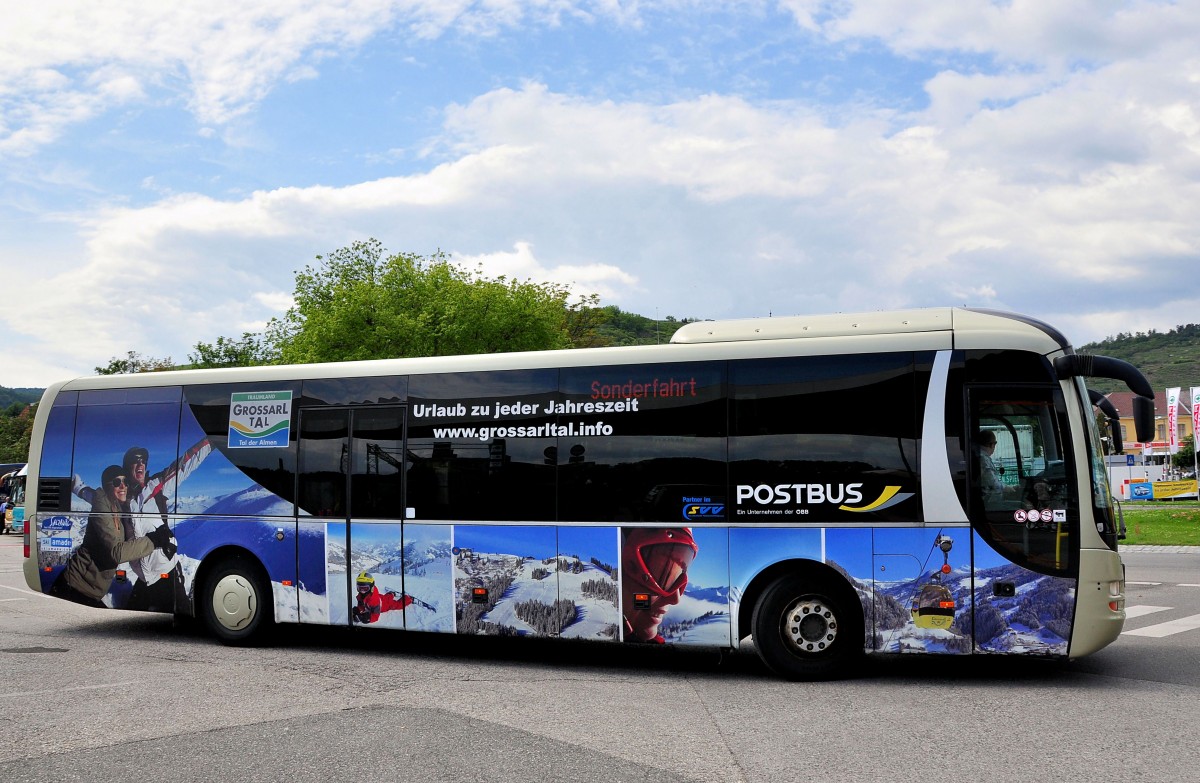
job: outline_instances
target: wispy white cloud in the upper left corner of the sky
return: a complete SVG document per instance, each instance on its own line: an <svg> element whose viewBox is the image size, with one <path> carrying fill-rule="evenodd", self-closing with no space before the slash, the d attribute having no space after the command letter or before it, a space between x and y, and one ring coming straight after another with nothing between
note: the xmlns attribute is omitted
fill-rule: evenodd
<svg viewBox="0 0 1200 783"><path fill-rule="evenodd" d="M0 155L29 155L114 107L176 92L202 125L252 110L278 83L379 34L490 36L564 16L636 22L612 0L47 0L0 25ZM206 132L211 132L206 128Z"/></svg>

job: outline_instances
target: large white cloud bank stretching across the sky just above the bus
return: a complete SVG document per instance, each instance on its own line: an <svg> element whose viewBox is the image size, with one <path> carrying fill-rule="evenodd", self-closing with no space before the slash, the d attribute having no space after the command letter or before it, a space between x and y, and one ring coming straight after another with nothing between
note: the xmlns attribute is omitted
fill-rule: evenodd
<svg viewBox="0 0 1200 783"><path fill-rule="evenodd" d="M1068 82L1044 100L1086 116L1098 91ZM724 96L648 106L496 90L449 110L451 160L426 173L97 215L86 264L35 292L61 306L17 328L80 363L127 349L182 359L197 340L282 312L313 249L368 235L392 250L445 247L488 274L575 282L635 311L979 304L1096 328L1069 316L1055 286L1081 274L1100 285L1146 256L1192 263L1200 238L1177 202L1196 186L1160 165L1170 145L1088 161L1073 122L1040 122L1044 157L1006 142L1033 133L1025 115L1040 100L888 135L874 115L834 127L803 107ZM1163 115L1135 106L1114 121ZM1176 108L1165 115L1187 125ZM985 165L976 150L989 144Z"/></svg>

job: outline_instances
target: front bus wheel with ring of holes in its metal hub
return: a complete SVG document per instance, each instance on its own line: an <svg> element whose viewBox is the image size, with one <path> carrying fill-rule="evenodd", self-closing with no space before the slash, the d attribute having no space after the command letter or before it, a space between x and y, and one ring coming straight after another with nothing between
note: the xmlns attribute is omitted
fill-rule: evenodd
<svg viewBox="0 0 1200 783"><path fill-rule="evenodd" d="M763 663L787 680L842 676L863 652L859 608L796 575L763 591L751 627Z"/></svg>

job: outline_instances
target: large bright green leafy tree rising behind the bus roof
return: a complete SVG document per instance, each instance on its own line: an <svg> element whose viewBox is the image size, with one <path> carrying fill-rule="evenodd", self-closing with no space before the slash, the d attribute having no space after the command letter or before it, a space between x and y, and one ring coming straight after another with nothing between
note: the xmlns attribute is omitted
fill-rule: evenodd
<svg viewBox="0 0 1200 783"><path fill-rule="evenodd" d="M572 330L589 331L582 311L595 305L571 305L563 285L487 277L442 252L388 256L374 239L317 262L296 273L295 304L268 325L283 363L568 348Z"/></svg>

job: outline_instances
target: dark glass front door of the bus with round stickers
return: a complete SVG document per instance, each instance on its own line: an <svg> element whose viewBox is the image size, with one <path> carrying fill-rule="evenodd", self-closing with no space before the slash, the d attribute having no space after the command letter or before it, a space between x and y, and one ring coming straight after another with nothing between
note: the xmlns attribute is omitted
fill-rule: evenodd
<svg viewBox="0 0 1200 783"><path fill-rule="evenodd" d="M1042 573L1073 567L1079 500L1057 390L973 388L971 518L1013 562Z"/></svg>

